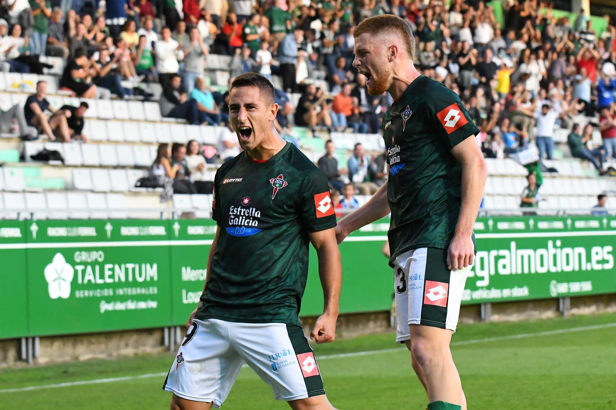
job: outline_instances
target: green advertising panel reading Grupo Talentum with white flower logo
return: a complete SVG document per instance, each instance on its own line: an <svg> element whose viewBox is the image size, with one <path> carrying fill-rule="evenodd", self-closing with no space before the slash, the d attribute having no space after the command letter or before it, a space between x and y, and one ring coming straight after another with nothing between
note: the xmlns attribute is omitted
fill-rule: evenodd
<svg viewBox="0 0 616 410"><path fill-rule="evenodd" d="M169 221L27 223L30 334L171 323Z"/></svg>

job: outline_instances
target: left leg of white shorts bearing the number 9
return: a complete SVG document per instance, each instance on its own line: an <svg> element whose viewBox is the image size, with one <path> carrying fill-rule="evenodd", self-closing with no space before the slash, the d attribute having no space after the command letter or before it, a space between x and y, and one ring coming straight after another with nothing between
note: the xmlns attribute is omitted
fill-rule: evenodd
<svg viewBox="0 0 616 410"><path fill-rule="evenodd" d="M214 408L222 405L242 365L230 345L227 324L216 319L193 321L171 364L164 390L185 400L213 403Z"/></svg>

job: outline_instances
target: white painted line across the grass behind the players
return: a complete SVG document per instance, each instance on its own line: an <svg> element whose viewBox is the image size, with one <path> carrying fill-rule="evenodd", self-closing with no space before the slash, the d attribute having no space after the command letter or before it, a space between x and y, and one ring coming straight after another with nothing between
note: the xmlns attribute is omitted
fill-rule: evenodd
<svg viewBox="0 0 616 410"><path fill-rule="evenodd" d="M545 331L545 332L537 332L537 333L521 333L521 334L512 334L509 336L496 336L496 337L484 337L482 339L461 340L460 342L452 342L451 345L452 346L463 346L463 345L471 345L471 344L477 344L477 343L498 342L500 340L524 339L527 337L550 336L554 334L584 332L584 331L591 331L591 330L596 330L596 329L606 329L606 328L616 328L616 323L595 324L593 326L583 326L581 328L557 329L553 331ZM320 356L318 360L341 359L341 358L355 357L355 356L378 355L381 353L402 352L403 350L405 349L402 347L396 347L396 348L381 349L381 350L367 350L365 352L339 353L336 355ZM243 367L248 367L248 366L244 364ZM88 385L88 384L123 382L124 380L148 379L150 377L163 377L163 376L166 376L165 372L140 374L138 376L109 377L107 379L79 380L78 382L66 382L66 383L46 384L46 385L18 387L18 388L5 388L5 389L0 390L0 393L30 392L31 390L42 390L44 388L59 388L59 387L81 386L81 385Z"/></svg>

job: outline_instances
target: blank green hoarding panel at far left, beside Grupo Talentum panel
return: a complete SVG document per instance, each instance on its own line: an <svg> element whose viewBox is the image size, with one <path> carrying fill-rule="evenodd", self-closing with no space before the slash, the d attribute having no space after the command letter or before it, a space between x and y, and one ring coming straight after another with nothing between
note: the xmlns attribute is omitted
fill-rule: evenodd
<svg viewBox="0 0 616 410"><path fill-rule="evenodd" d="M0 338L28 334L26 224L0 222Z"/></svg>

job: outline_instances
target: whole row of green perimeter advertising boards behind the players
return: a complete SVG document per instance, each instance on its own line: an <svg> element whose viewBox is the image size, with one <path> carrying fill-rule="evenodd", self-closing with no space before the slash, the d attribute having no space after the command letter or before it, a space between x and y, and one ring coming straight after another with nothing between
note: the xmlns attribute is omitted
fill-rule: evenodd
<svg viewBox="0 0 616 410"><path fill-rule="evenodd" d="M341 313L389 310L389 220L341 245ZM184 324L206 276L212 220L0 222L0 339ZM616 292L615 217L478 219L463 303ZM241 257L238 254L229 257ZM319 315L317 258L301 315Z"/></svg>

